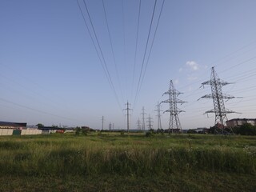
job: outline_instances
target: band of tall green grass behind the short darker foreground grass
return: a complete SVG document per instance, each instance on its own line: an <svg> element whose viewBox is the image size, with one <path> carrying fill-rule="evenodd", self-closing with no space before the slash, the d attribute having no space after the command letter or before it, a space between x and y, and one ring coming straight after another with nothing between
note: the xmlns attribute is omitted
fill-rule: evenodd
<svg viewBox="0 0 256 192"><path fill-rule="evenodd" d="M0 174L256 174L256 138L70 134L0 138Z"/></svg>

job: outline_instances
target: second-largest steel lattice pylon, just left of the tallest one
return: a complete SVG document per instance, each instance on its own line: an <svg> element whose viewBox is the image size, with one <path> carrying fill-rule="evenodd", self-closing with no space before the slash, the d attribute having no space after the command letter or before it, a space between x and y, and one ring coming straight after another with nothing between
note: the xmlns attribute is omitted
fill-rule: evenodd
<svg viewBox="0 0 256 192"><path fill-rule="evenodd" d="M169 110L164 111L164 113L166 112L170 113L169 133L170 133L170 130L171 130L171 133L182 133L182 126L179 121L178 114L185 111L179 110L177 107L178 103L181 103L181 104L184 103L182 100L177 98L178 95L182 93L179 92L178 90L175 90L174 83L172 80L170 80L169 90L167 90L164 94L169 95L168 99L166 99L165 101L162 101L163 103L169 103L170 105Z"/></svg>

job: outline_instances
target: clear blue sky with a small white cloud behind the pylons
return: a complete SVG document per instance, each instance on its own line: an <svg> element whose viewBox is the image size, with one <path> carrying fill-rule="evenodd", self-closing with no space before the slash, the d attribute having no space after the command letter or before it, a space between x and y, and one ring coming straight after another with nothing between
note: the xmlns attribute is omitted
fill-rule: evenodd
<svg viewBox="0 0 256 192"><path fill-rule="evenodd" d="M204 114L212 99L198 100L210 94L201 86L213 66L232 82L222 91L236 98L225 106L239 113L227 118L256 118L255 7L254 0L1 0L0 121L102 129L104 116L104 129L126 129L129 102L130 129L143 106L157 129L156 105L172 80L186 102L178 105L182 129L214 126L214 114ZM162 113L163 129L169 118Z"/></svg>

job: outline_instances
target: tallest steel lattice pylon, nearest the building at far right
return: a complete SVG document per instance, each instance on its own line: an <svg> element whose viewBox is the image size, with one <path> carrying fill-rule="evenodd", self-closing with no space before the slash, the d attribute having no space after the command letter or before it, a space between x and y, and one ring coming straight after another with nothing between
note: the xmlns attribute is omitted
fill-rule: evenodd
<svg viewBox="0 0 256 192"><path fill-rule="evenodd" d="M201 98L212 98L214 101L214 109L207 110L205 114L214 113L215 114L215 134L226 134L227 132L233 132L231 128L226 127L226 121L228 120L226 114L236 113L232 110L227 110L224 105L224 99L231 99L234 96L223 94L222 86L226 86L230 82L225 82L218 78L218 74L215 72L214 67L211 68L210 80L202 82L202 86L210 85L211 94L206 94ZM200 98L199 98L200 99ZM227 129L225 129L227 128Z"/></svg>

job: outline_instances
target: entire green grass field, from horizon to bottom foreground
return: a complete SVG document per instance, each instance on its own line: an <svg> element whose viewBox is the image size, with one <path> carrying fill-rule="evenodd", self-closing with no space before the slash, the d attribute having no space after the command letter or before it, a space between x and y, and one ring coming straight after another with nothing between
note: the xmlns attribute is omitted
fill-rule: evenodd
<svg viewBox="0 0 256 192"><path fill-rule="evenodd" d="M0 191L256 191L256 137L1 137L0 175Z"/></svg>

